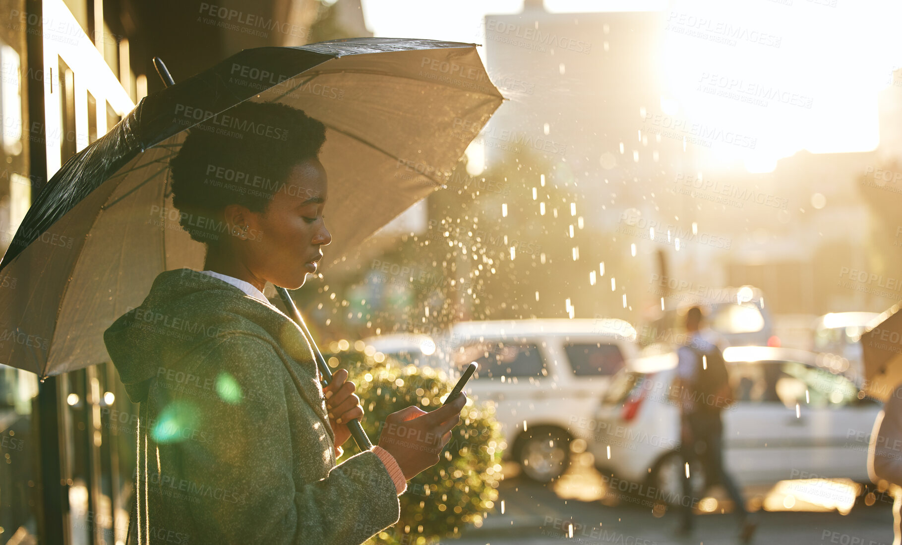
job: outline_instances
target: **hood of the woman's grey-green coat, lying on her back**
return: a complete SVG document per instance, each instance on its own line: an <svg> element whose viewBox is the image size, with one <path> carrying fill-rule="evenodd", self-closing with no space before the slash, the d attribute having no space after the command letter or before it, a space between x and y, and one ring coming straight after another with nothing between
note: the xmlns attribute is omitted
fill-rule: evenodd
<svg viewBox="0 0 902 545"><path fill-rule="evenodd" d="M273 314L276 310L277 314ZM132 402L147 399L149 380L233 330L259 328L281 311L232 284L191 269L160 273L143 303L104 332L104 343ZM262 324L261 327L258 324Z"/></svg>

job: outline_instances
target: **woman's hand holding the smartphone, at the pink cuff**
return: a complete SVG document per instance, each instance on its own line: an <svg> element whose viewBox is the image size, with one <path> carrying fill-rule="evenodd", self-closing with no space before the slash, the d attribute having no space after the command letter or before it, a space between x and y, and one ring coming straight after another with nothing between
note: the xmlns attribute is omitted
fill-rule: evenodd
<svg viewBox="0 0 902 545"><path fill-rule="evenodd" d="M460 411L465 404L466 394L461 393L455 401L432 412L410 405L385 418L379 446L398 462L405 480L438 463L442 448L451 440L451 430L460 422Z"/></svg>

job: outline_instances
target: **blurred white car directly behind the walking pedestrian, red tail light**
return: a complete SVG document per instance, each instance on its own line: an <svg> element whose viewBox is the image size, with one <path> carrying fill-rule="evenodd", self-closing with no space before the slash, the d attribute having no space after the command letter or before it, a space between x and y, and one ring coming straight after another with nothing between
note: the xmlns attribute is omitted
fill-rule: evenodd
<svg viewBox="0 0 902 545"><path fill-rule="evenodd" d="M879 402L832 371L827 356L770 346L731 346L723 356L737 399L723 412L724 460L740 485L836 477L870 482L868 442ZM685 471L679 413L668 398L676 354L651 359L639 358L614 377L586 426L594 434L589 450L603 475L676 498ZM694 480L704 480L704 467L690 469Z"/></svg>

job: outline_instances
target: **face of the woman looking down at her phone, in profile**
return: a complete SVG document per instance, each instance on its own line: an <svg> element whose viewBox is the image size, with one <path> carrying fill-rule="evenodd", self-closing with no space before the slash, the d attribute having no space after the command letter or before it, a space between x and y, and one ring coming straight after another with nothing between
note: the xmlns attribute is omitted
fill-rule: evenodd
<svg viewBox="0 0 902 545"><path fill-rule="evenodd" d="M245 263L253 275L288 290L304 285L317 272L320 246L332 242L323 221L326 170L318 159L299 162L262 213L247 217L250 233L242 241Z"/></svg>

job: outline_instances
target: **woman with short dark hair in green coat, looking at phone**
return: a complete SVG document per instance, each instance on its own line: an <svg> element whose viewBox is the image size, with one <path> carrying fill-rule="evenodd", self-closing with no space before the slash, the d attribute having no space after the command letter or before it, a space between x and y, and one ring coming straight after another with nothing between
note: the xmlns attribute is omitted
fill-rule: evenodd
<svg viewBox="0 0 902 545"><path fill-rule="evenodd" d="M161 273L104 334L141 403L131 542L362 543L398 522L406 480L458 423L464 395L410 406L336 466L364 415L354 383L339 370L324 392L299 327L262 295L303 285L331 241L325 132L290 106L244 103L191 129L170 162L205 270Z"/></svg>

